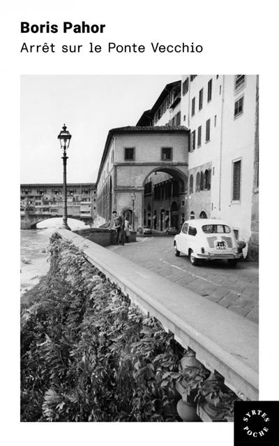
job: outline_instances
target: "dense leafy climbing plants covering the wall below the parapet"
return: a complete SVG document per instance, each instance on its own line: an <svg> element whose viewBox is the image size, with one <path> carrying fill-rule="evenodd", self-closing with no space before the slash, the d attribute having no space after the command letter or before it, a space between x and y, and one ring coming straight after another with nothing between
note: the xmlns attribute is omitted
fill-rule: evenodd
<svg viewBox="0 0 279 446"><path fill-rule="evenodd" d="M22 305L21 419L178 421L175 347L171 334L54 234L50 271Z"/></svg>

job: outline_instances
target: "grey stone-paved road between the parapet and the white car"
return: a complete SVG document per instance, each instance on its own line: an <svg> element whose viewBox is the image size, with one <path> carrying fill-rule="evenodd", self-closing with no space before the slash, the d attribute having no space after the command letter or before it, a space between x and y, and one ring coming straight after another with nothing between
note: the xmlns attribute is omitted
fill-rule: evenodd
<svg viewBox="0 0 279 446"><path fill-rule="evenodd" d="M253 322L259 322L257 264L241 261L232 268L227 261L208 261L202 266L193 266L188 257L174 256L173 240L172 236L151 236L137 238L137 243L107 249Z"/></svg>

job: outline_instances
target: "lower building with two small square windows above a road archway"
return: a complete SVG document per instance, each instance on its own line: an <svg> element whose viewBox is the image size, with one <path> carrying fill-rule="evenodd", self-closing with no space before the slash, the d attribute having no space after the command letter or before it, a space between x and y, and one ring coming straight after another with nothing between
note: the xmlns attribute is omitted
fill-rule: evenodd
<svg viewBox="0 0 279 446"><path fill-rule="evenodd" d="M146 218L161 227L167 209L159 213L156 206L151 210L147 206L145 211L146 196L152 191L151 202L156 203L158 180L152 178L156 178L158 172L162 181L167 182L169 177L175 180L177 186L170 186L168 190L179 188L179 194L185 196L188 143L189 132L183 126L135 126L110 130L97 180L97 213L103 217L103 222L112 220L112 210L115 209L127 215L130 222L133 220L135 229L143 226ZM161 194L160 199L167 199L167 194L169 192Z"/></svg>

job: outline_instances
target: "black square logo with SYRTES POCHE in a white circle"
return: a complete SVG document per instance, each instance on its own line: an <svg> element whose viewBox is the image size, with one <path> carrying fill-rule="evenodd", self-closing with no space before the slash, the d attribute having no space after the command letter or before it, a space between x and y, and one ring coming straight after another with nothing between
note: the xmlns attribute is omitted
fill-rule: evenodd
<svg viewBox="0 0 279 446"><path fill-rule="evenodd" d="M234 445L273 445L279 401L236 401ZM275 444L275 443L274 443Z"/></svg>

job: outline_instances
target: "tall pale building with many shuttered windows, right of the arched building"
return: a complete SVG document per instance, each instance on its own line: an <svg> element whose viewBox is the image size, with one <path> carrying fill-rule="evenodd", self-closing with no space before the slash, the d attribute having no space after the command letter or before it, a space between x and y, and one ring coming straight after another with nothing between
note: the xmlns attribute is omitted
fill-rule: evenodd
<svg viewBox="0 0 279 446"><path fill-rule="evenodd" d="M257 257L258 76L182 75L170 111L164 106L167 89L149 110L149 120L172 126L175 113L190 129L186 219L225 218Z"/></svg>

